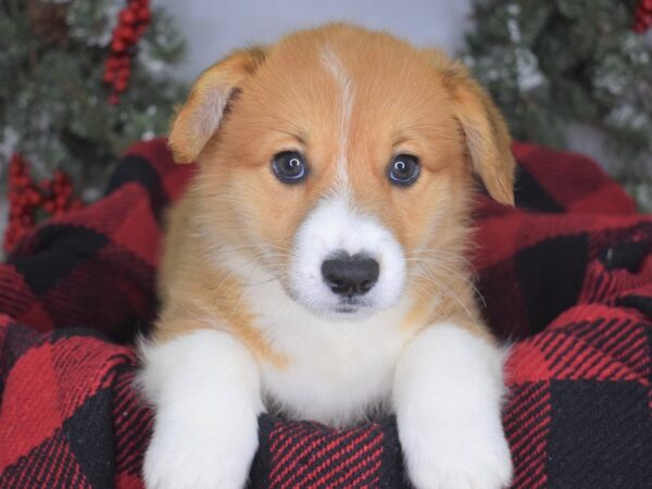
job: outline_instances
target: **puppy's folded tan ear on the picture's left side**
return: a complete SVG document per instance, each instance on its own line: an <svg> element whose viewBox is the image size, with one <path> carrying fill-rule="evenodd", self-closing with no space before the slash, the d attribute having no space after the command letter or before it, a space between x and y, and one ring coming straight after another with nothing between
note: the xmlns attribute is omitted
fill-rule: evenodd
<svg viewBox="0 0 652 489"><path fill-rule="evenodd" d="M235 51L195 82L170 133L168 145L177 163L197 160L220 127L229 98L248 76L255 73L265 54L263 48Z"/></svg>

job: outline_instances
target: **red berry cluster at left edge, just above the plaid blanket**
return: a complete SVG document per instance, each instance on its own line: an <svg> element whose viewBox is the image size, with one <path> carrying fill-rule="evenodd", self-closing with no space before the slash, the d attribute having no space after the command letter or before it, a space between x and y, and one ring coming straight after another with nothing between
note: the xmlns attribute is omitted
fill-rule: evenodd
<svg viewBox="0 0 652 489"><path fill-rule="evenodd" d="M9 163L9 225L4 234L4 251L10 252L43 212L59 217L80 208L82 201L73 195L71 179L65 173L57 171L51 179L37 186L25 159L14 153Z"/></svg>

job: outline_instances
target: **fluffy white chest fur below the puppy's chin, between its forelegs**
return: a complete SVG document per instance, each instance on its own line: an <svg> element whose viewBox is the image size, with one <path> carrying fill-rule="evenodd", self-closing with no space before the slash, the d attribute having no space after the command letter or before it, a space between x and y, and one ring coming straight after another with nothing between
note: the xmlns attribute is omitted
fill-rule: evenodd
<svg viewBox="0 0 652 489"><path fill-rule="evenodd" d="M393 371L411 335L401 327L409 301L366 319L322 319L272 281L248 290L250 306L287 365L262 363L266 398L287 414L346 426L389 399Z"/></svg>

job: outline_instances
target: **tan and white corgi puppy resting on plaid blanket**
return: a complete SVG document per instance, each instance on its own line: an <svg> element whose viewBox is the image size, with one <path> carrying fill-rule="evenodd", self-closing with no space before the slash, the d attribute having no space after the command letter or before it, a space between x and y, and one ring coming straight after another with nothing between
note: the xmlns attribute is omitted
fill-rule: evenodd
<svg viewBox="0 0 652 489"><path fill-rule="evenodd" d="M198 172L141 346L147 487L242 488L263 411L346 427L378 410L415 487L509 485L503 353L465 252L475 179L511 205L514 161L461 64L355 26L298 32L208 68L170 147Z"/></svg>

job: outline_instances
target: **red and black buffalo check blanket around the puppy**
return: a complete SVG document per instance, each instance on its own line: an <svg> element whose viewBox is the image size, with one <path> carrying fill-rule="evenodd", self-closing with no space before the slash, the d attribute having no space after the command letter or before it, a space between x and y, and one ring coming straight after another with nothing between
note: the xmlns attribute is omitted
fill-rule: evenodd
<svg viewBox="0 0 652 489"><path fill-rule="evenodd" d="M512 341L514 487L652 487L652 216L590 160L515 145L516 209L480 197L475 266ZM191 166L139 143L98 203L0 265L0 487L137 488L152 414L133 388L161 222ZM252 488L403 488L392 418L260 419Z"/></svg>

